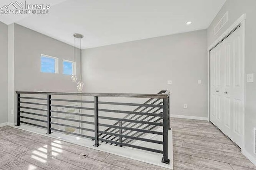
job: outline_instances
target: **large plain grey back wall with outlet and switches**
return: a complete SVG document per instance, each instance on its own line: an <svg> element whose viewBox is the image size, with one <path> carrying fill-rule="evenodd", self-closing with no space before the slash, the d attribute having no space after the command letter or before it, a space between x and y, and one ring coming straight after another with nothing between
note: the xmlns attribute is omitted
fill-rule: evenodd
<svg viewBox="0 0 256 170"><path fill-rule="evenodd" d="M171 114L207 117L206 49L206 30L84 49L84 91L170 90Z"/></svg>

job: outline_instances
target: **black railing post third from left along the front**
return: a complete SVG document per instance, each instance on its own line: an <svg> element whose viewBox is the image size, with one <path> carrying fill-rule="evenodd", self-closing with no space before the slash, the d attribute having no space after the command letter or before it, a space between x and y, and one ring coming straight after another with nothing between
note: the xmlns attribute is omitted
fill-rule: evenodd
<svg viewBox="0 0 256 170"><path fill-rule="evenodd" d="M100 146L99 144L99 98L94 96L94 136L95 144L93 146Z"/></svg>

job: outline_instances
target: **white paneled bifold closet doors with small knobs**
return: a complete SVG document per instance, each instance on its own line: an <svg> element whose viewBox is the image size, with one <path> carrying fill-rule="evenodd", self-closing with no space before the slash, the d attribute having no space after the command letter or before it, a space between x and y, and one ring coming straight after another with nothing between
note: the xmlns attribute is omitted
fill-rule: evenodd
<svg viewBox="0 0 256 170"><path fill-rule="evenodd" d="M244 117L242 36L238 28L210 51L210 121L240 147Z"/></svg>

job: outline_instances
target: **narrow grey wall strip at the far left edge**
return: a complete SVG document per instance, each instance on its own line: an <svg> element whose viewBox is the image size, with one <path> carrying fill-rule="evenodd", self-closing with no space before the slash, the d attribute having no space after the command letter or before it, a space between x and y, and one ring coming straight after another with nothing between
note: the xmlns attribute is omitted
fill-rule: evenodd
<svg viewBox="0 0 256 170"><path fill-rule="evenodd" d="M8 122L8 26L0 22L0 123Z"/></svg>

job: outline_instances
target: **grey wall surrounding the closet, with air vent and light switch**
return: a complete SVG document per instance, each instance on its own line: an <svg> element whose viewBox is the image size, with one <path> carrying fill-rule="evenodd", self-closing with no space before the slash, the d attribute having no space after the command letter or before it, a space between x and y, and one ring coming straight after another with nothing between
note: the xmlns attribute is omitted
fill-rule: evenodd
<svg viewBox="0 0 256 170"><path fill-rule="evenodd" d="M213 34L214 26L220 18L229 12L229 21L218 32ZM256 74L256 1L255 0L227 0L220 12L214 18L207 31L208 45L211 45L223 32L231 26L242 14L246 13L245 26L245 72ZM255 78L254 78L255 79ZM253 153L253 127L256 127L256 83L246 83L245 100L245 148L243 152L249 155L256 164Z"/></svg>

